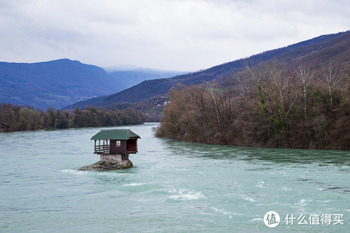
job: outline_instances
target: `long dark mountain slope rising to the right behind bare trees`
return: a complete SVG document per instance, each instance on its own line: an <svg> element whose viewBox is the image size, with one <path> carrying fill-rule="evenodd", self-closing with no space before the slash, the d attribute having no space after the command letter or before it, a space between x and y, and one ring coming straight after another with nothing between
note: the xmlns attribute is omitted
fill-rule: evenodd
<svg viewBox="0 0 350 233"><path fill-rule="evenodd" d="M284 48L278 48L253 55L253 60L277 59L286 61L291 69L299 63L305 65L317 65L329 59L335 59L337 62L346 63L350 56L350 31L339 32L337 34L324 35L307 41L296 43ZM84 108L86 106L109 107L116 103L142 102L158 95L166 95L167 91L175 84L200 84L203 81L223 82L232 73L237 72L242 67L243 59L227 62L221 65L213 66L207 70L175 76L169 79L155 79L144 81L138 85L120 91L113 95L100 96L98 98L88 99L67 106L65 109L74 109L76 107Z"/></svg>

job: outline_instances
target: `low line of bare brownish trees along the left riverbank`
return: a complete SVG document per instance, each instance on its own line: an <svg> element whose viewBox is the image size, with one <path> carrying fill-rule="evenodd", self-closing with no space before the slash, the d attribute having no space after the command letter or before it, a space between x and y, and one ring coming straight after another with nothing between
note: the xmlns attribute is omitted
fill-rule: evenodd
<svg viewBox="0 0 350 233"><path fill-rule="evenodd" d="M116 126L142 124L144 121L145 115L132 108L106 110L86 107L70 112L53 107L43 111L30 106L0 104L0 131Z"/></svg>

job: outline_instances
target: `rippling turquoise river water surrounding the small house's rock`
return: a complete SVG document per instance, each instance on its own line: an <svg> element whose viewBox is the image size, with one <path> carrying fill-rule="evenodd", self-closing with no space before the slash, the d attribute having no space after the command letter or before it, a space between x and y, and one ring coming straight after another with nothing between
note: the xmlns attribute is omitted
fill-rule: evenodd
<svg viewBox="0 0 350 233"><path fill-rule="evenodd" d="M0 134L0 231L350 231L350 151L178 142L153 137L156 125L122 127L141 136L139 153L107 172L76 171L99 159L101 128ZM287 225L287 214L344 224Z"/></svg>

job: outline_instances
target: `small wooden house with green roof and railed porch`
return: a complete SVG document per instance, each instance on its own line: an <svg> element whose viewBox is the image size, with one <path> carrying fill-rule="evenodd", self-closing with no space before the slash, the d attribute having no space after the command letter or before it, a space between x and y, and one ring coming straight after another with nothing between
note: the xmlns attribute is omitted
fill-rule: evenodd
<svg viewBox="0 0 350 233"><path fill-rule="evenodd" d="M94 154L99 154L100 160L119 162L137 153L137 139L141 137L130 129L102 129L91 138L95 140Z"/></svg>

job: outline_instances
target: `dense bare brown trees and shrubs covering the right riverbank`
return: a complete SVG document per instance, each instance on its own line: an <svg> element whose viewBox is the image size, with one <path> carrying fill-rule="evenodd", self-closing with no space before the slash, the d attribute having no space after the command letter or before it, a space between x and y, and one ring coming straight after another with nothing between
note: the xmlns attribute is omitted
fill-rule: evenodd
<svg viewBox="0 0 350 233"><path fill-rule="evenodd" d="M350 149L350 64L291 70L244 61L225 82L174 86L155 136L187 142Z"/></svg>

